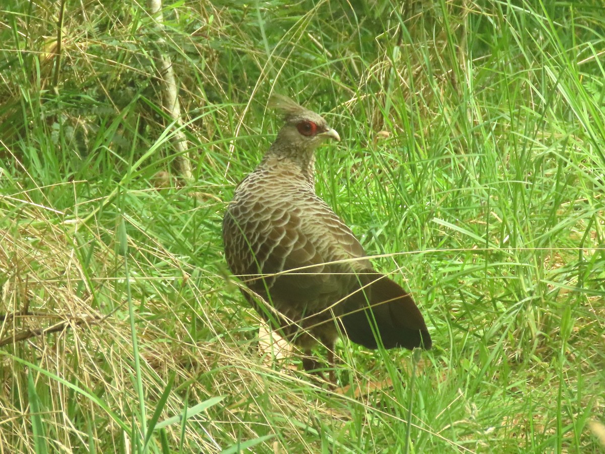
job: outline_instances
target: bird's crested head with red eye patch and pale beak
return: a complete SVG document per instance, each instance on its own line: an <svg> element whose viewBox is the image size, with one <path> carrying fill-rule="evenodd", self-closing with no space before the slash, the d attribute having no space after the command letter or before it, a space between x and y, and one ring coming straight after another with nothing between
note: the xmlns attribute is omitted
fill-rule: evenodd
<svg viewBox="0 0 605 454"><path fill-rule="evenodd" d="M315 112L312 112L292 99L274 94L269 107L283 114L286 124L278 133L278 141L289 143L293 148L313 151L327 139L340 141L338 133Z"/></svg>

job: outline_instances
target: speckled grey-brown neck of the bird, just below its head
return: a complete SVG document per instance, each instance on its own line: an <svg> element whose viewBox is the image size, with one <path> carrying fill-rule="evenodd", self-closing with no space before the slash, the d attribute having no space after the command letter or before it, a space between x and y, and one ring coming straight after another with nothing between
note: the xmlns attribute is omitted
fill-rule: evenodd
<svg viewBox="0 0 605 454"><path fill-rule="evenodd" d="M261 166L277 167L300 173L312 187L315 187L315 150L296 146L292 143L273 142L263 156Z"/></svg>

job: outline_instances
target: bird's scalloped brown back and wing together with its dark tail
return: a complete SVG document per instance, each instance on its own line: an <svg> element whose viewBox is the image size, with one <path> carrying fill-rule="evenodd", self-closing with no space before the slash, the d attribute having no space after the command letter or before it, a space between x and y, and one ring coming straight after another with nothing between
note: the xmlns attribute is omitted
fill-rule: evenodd
<svg viewBox="0 0 605 454"><path fill-rule="evenodd" d="M269 197L229 207L223 235L234 274L290 319L331 308L325 315L339 317L355 343L376 349L379 338L386 348L430 349L414 300L374 271L335 212L315 194L285 199L288 203Z"/></svg>

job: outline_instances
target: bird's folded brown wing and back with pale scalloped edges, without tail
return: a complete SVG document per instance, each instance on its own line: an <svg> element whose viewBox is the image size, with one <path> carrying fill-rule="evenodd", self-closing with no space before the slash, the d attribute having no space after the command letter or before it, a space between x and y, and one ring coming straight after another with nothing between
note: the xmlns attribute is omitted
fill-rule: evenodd
<svg viewBox="0 0 605 454"><path fill-rule="evenodd" d="M367 259L347 262L364 257L364 249L311 192L236 203L223 222L230 268L278 310L281 304L325 308L355 286L356 266L371 267Z"/></svg>

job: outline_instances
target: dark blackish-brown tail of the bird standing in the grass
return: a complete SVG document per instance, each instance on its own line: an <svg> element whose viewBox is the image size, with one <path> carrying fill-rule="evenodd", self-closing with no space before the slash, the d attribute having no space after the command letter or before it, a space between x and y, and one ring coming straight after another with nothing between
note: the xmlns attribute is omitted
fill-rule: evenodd
<svg viewBox="0 0 605 454"><path fill-rule="evenodd" d="M376 272L360 274L359 280L364 290L347 298L341 317L350 340L369 349L378 348L376 337L387 349L431 348L433 341L424 318L401 286Z"/></svg>

